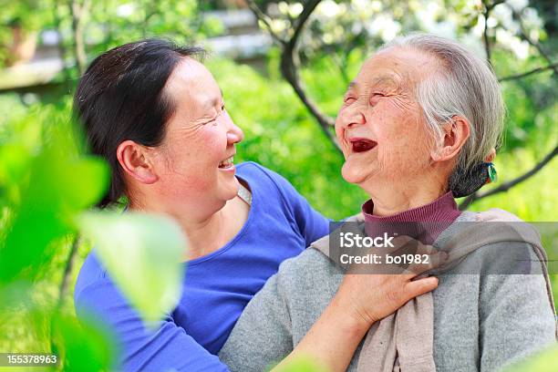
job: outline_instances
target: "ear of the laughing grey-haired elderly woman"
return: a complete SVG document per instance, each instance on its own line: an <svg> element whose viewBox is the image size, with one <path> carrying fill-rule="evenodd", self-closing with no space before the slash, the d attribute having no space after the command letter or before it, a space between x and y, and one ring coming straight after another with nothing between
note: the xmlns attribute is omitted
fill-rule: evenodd
<svg viewBox="0 0 558 372"><path fill-rule="evenodd" d="M436 149L430 152L434 161L444 161L456 158L461 148L469 139L469 121L461 116L454 116L442 126L443 138Z"/></svg>

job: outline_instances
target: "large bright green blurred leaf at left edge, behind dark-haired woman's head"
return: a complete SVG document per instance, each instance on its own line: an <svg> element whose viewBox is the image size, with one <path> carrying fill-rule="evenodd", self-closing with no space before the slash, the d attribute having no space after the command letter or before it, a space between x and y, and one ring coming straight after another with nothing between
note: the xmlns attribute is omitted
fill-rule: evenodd
<svg viewBox="0 0 558 372"><path fill-rule="evenodd" d="M0 240L0 285L33 280L38 266L55 253L48 245L73 232L78 212L98 202L108 186L105 162L80 155L70 128L57 124L36 153L24 154L24 147L13 144L6 151L14 156L3 158L3 180L21 183L6 187L16 187L12 193L18 197Z"/></svg>

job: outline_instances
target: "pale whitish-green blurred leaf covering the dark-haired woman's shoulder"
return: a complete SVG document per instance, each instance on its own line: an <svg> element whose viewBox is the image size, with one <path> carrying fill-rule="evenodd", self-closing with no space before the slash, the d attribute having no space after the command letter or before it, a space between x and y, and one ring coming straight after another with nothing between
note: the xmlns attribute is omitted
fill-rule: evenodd
<svg viewBox="0 0 558 372"><path fill-rule="evenodd" d="M78 224L146 322L160 320L176 306L187 248L176 222L140 212L85 212Z"/></svg>

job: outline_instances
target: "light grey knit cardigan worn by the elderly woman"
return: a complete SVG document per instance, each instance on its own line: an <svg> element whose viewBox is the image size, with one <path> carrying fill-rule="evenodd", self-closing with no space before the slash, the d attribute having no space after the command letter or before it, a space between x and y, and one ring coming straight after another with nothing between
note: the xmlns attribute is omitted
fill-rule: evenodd
<svg viewBox="0 0 558 372"><path fill-rule="evenodd" d="M456 222L474 221L464 212ZM453 223L439 239L451 236ZM493 371L552 345L555 315L542 274L457 274L495 257L526 252L521 243L492 244L439 274L433 291L434 361L439 371ZM532 249L530 259L537 261ZM307 249L284 261L279 272L244 309L220 358L232 371L263 371L287 356L336 294L343 271L324 254ZM332 325L335 326L335 325ZM349 371L356 371L356 349Z"/></svg>

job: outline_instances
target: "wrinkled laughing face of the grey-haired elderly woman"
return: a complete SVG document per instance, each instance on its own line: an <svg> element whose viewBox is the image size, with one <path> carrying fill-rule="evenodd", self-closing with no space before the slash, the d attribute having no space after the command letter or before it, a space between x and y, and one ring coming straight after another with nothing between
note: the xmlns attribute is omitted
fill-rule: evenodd
<svg viewBox="0 0 558 372"><path fill-rule="evenodd" d="M414 88L436 65L429 56L389 48L371 57L349 85L336 119L346 181L405 181L429 165L431 140Z"/></svg>

